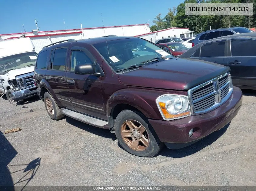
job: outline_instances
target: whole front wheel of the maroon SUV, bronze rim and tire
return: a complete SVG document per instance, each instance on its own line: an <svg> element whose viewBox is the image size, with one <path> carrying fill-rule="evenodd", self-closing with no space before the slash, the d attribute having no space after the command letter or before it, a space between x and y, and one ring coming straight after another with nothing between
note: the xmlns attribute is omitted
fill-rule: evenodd
<svg viewBox="0 0 256 191"><path fill-rule="evenodd" d="M136 156L153 157L163 147L147 118L135 111L123 110L118 114L115 134L120 145Z"/></svg>

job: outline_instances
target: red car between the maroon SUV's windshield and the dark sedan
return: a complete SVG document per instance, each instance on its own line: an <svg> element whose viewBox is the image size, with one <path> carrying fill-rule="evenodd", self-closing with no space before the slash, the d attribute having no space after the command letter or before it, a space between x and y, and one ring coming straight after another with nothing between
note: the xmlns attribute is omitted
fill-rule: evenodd
<svg viewBox="0 0 256 191"><path fill-rule="evenodd" d="M161 43L157 45L175 56L179 56L190 49L188 46L181 43Z"/></svg>

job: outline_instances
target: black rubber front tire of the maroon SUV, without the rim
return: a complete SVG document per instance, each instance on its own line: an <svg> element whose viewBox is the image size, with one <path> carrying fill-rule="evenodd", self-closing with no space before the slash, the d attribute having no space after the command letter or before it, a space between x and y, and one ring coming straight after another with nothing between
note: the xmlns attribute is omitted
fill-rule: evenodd
<svg viewBox="0 0 256 191"><path fill-rule="evenodd" d="M125 123L128 120L134 120L139 123L141 123L142 126L145 127L146 132L149 137L149 144L148 147L145 150L142 151L136 151L130 146L128 146L122 135L121 135L121 127L123 123ZM159 140L158 136L156 135L154 129L151 127L150 123L148 122L148 119L141 113L131 110L123 110L121 111L115 120L115 135L118 139L118 142L124 148L127 152L139 156L139 157L154 157L161 151L163 148L163 143Z"/></svg>

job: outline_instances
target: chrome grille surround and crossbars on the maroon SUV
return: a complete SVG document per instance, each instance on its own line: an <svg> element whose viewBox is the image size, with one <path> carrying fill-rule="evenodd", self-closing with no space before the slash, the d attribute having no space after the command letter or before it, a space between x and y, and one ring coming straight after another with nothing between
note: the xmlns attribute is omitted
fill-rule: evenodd
<svg viewBox="0 0 256 191"><path fill-rule="evenodd" d="M204 86L206 86L206 85L208 85L208 84L210 84L210 83L216 84L216 82L218 82L218 80L219 80L220 78L223 78L223 77L225 77L225 76L228 76L228 82L227 82L227 83L229 83L229 91L228 91L228 94L220 100L220 103L215 102L215 104L214 104L213 106L211 106L211 107L209 107L209 108L207 108L207 109L204 109L204 110L202 110L202 111L196 111L196 112L195 112L195 111L194 111L194 107L193 107L192 93L193 93L195 90L197 90L197 89L199 89L199 88L203 88ZM222 85L222 86L219 87L219 88L224 88L225 85L226 85L226 84ZM214 86L214 91L215 91L216 97L217 97L217 96L221 96L221 92L218 92L218 90L216 90L216 86ZM211 80L209 80L209 81L207 81L207 82L205 82L205 83L203 83L203 84L200 84L200 85L198 85L198 86L196 86L196 87L194 87L194 88L191 88L190 90L188 90L188 100L189 100L189 103L190 103L191 115L199 115L199 114L208 113L209 111L214 110L216 107L222 105L225 101L228 100L228 98L229 98L229 97L231 96L231 94L232 94L232 91L233 91L233 84L232 84L231 75L230 75L229 72L225 73L224 75L220 75L220 76L218 76L218 77L216 77L216 78L213 78L213 79L211 79ZM220 94L220 95L219 95L219 94Z"/></svg>

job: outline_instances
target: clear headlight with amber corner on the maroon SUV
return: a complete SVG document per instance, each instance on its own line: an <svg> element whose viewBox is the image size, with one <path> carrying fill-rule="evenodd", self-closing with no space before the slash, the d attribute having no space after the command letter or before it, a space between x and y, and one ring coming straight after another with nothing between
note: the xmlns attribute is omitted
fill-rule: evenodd
<svg viewBox="0 0 256 191"><path fill-rule="evenodd" d="M188 96L165 94L156 99L156 104L165 120L179 119L190 115Z"/></svg>

